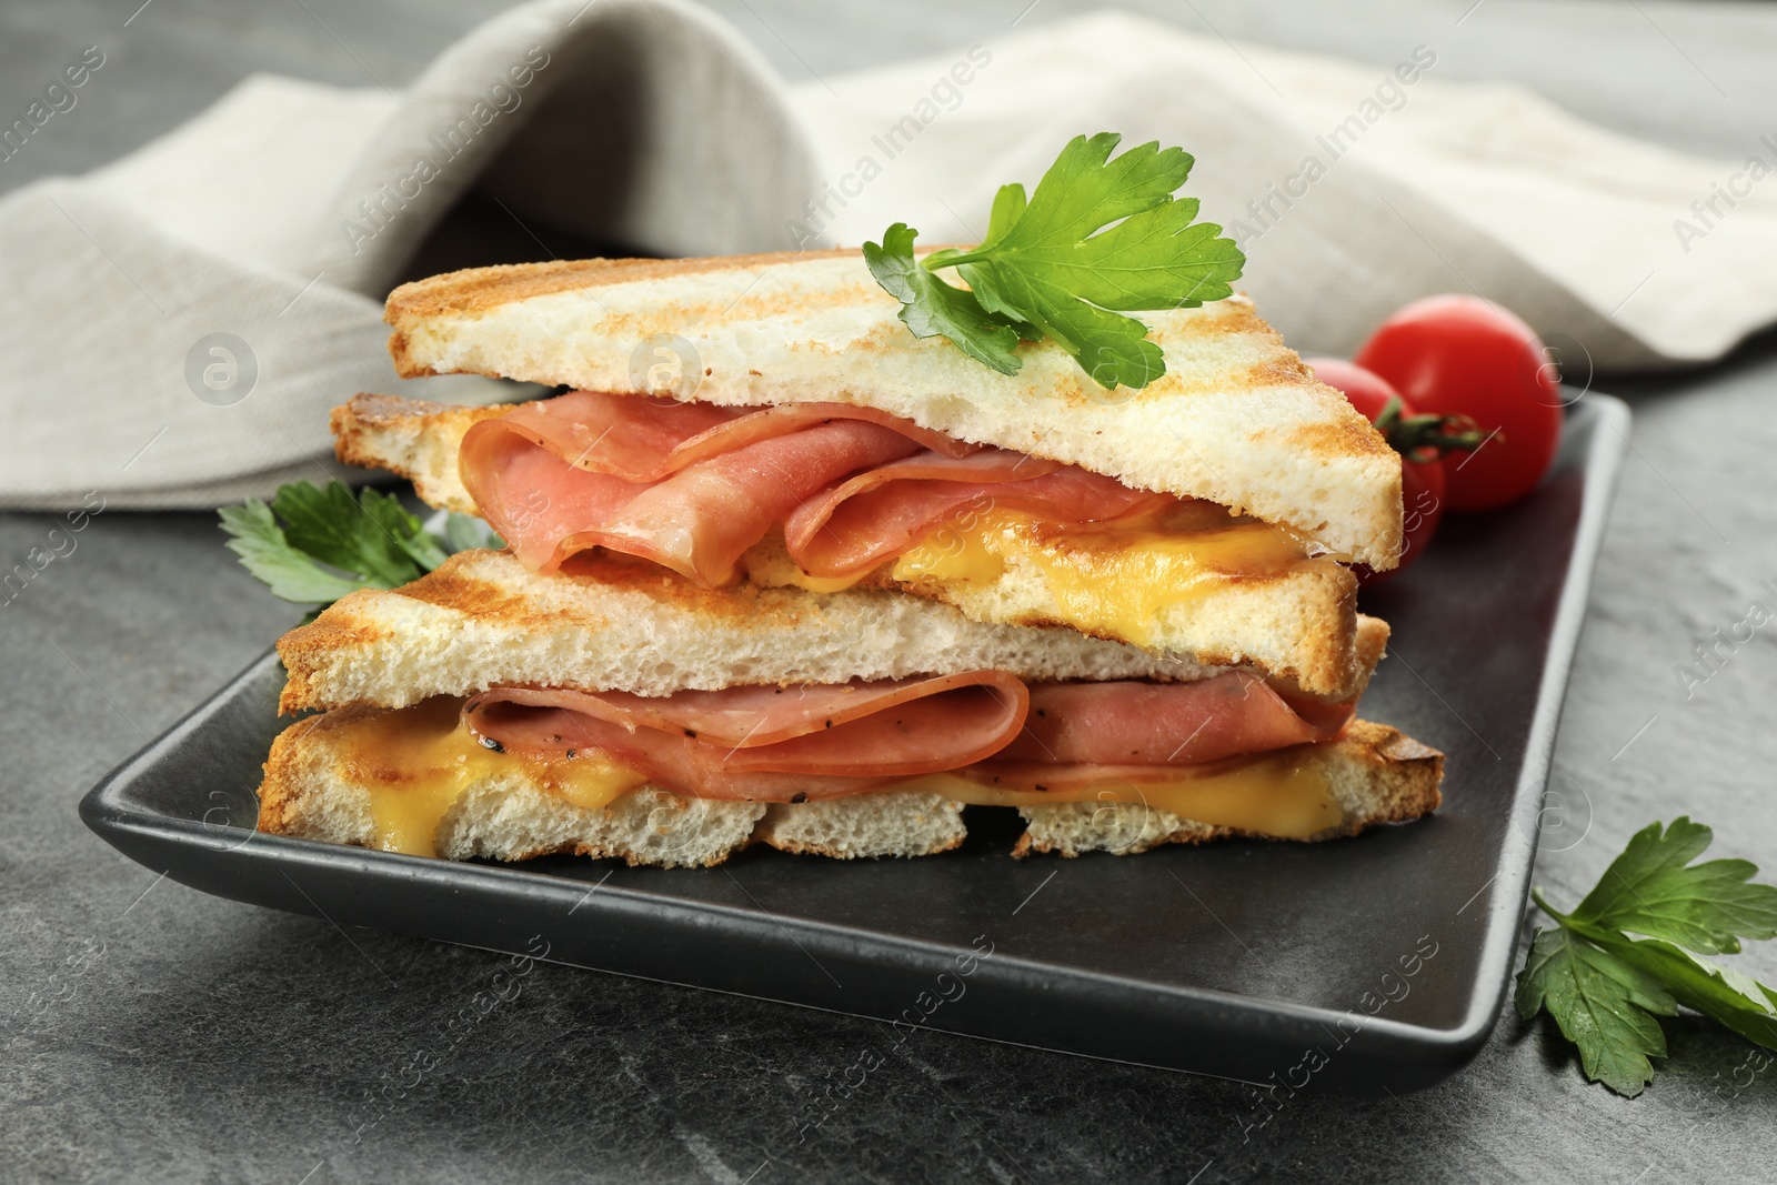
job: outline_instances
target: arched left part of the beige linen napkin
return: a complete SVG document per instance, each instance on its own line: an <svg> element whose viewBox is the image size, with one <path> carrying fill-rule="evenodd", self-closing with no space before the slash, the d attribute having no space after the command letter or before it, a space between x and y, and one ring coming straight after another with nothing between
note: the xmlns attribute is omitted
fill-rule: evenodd
<svg viewBox="0 0 1777 1185"><path fill-rule="evenodd" d="M87 85L100 85L103 66ZM780 245L812 153L782 84L679 0L546 0L402 94L256 76L147 147L0 199L0 506L217 506L322 480L394 377L382 300L471 190L656 254Z"/></svg>

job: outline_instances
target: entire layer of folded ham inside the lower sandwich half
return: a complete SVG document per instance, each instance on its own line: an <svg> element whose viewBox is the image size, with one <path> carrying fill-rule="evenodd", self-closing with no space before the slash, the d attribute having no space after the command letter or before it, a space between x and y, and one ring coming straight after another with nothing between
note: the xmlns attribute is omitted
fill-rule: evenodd
<svg viewBox="0 0 1777 1185"><path fill-rule="evenodd" d="M496 688L464 704L489 748L601 752L670 791L803 801L960 773L1008 789L1162 780L1292 744L1333 741L1352 704L1249 672L1201 682L1025 686L1004 672L649 698Z"/></svg>

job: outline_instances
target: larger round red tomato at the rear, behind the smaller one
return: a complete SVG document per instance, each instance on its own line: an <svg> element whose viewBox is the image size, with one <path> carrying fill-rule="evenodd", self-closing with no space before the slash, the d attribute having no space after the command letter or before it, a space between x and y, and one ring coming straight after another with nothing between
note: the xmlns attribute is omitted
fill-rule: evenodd
<svg viewBox="0 0 1777 1185"><path fill-rule="evenodd" d="M1560 441L1560 378L1542 339L1478 297L1425 297L1377 327L1358 352L1416 409L1468 416L1484 444L1450 458L1450 510L1493 510L1537 487Z"/></svg>

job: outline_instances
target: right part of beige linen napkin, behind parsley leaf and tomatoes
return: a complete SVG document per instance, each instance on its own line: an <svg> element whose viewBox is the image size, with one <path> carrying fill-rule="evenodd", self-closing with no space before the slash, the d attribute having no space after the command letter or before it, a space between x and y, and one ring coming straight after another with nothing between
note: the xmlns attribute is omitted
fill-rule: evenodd
<svg viewBox="0 0 1777 1185"><path fill-rule="evenodd" d="M794 92L825 149L817 199L835 194L801 226L848 243L896 220L977 242L1000 183L1112 130L1196 155L1185 192L1233 229L1240 288L1303 354L1349 357L1439 291L1512 307L1582 373L1587 354L1715 359L1777 320L1777 126L1749 144L1761 163L1702 160L1516 85L1445 82L1434 44L1356 66L1125 12L828 82Z"/></svg>

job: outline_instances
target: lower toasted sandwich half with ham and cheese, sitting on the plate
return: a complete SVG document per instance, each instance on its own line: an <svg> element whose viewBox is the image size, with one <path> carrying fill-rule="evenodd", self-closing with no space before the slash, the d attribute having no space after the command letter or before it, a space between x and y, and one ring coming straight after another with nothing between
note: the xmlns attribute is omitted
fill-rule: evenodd
<svg viewBox="0 0 1777 1185"><path fill-rule="evenodd" d="M576 574L466 551L354 592L279 641L259 830L444 858L714 865L748 844L922 856L965 808L1015 855L1416 819L1443 757L1356 698L1070 629L984 624L887 588L709 588L626 554Z"/></svg>

